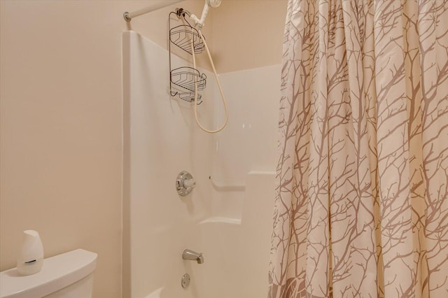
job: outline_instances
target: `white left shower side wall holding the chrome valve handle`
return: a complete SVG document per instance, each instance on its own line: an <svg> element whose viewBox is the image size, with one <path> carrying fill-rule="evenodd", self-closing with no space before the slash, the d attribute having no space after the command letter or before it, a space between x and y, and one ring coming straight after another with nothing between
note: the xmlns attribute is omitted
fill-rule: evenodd
<svg viewBox="0 0 448 298"><path fill-rule="evenodd" d="M212 137L197 128L191 104L171 99L168 52L129 31L123 34L125 173L123 191L124 297L193 297L180 287L183 248L200 250L195 222L209 215ZM183 66L178 57L173 65ZM211 73L207 73L211 77ZM202 95L213 90L213 84ZM201 104L205 125L213 107ZM193 174L186 197L177 175Z"/></svg>

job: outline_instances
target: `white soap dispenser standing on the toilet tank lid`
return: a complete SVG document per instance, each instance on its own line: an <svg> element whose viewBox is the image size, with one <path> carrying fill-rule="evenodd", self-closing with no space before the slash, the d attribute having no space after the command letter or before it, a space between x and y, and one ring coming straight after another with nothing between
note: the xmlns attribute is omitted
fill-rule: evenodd
<svg viewBox="0 0 448 298"><path fill-rule="evenodd" d="M43 246L38 232L23 231L22 247L17 257L17 271L20 275L30 275L41 271L43 265Z"/></svg>

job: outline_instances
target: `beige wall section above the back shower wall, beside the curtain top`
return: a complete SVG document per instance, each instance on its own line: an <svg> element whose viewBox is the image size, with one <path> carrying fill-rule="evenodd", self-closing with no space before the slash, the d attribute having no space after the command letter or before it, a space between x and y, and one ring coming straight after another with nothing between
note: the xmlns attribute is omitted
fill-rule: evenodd
<svg viewBox="0 0 448 298"><path fill-rule="evenodd" d="M214 60L218 72L279 64L286 0L223 0L214 11Z"/></svg>

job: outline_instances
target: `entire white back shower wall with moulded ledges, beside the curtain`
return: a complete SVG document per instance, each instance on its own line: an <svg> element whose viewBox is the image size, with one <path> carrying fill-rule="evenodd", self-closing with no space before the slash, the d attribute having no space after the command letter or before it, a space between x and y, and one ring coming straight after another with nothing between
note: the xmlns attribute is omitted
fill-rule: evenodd
<svg viewBox="0 0 448 298"><path fill-rule="evenodd" d="M229 124L214 136L211 218L199 225L214 274L198 298L267 295L280 75L279 65L220 75Z"/></svg>

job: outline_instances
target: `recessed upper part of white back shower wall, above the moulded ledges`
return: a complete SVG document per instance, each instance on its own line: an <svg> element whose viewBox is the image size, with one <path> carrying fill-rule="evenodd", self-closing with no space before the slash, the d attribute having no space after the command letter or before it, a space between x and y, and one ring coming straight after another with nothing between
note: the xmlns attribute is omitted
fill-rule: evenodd
<svg viewBox="0 0 448 298"><path fill-rule="evenodd" d="M214 217L241 218L247 173L275 171L280 76L280 65L220 75L229 124L214 139L211 177L221 186L214 188Z"/></svg>

